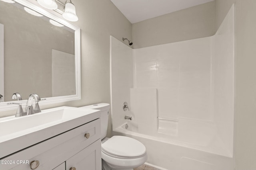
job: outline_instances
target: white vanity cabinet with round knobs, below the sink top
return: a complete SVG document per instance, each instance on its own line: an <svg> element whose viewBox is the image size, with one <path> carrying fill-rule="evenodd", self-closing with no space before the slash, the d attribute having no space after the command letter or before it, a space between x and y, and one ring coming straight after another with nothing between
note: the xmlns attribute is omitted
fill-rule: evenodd
<svg viewBox="0 0 256 170"><path fill-rule="evenodd" d="M0 164L0 170L101 170L100 119L56 135L2 160L14 160L14 164Z"/></svg>

